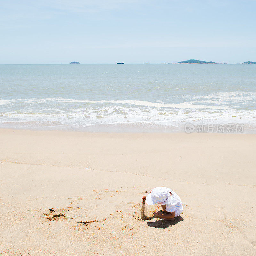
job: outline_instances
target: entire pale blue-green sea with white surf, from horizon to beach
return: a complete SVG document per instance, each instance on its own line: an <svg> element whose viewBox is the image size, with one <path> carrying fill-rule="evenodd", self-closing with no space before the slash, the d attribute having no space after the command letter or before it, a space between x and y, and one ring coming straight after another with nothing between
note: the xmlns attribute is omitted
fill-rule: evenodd
<svg viewBox="0 0 256 256"><path fill-rule="evenodd" d="M256 65L0 65L0 88L0 128L256 133Z"/></svg>

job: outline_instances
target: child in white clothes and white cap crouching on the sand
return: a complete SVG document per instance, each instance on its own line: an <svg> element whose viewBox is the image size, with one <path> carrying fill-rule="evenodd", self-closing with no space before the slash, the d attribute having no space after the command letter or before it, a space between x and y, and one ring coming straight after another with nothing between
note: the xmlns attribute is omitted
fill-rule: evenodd
<svg viewBox="0 0 256 256"><path fill-rule="evenodd" d="M142 197L142 200L146 200L148 205L161 204L165 214L158 211L154 212L154 215L163 220L174 220L174 217L179 216L183 211L180 197L170 188L152 188Z"/></svg>

